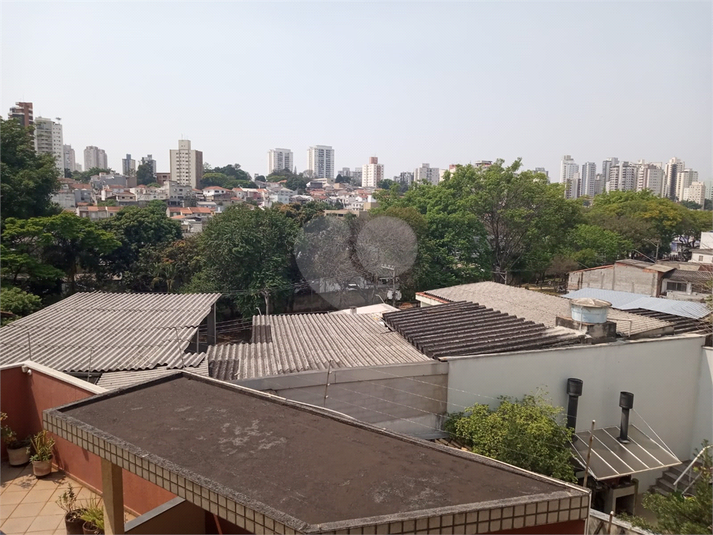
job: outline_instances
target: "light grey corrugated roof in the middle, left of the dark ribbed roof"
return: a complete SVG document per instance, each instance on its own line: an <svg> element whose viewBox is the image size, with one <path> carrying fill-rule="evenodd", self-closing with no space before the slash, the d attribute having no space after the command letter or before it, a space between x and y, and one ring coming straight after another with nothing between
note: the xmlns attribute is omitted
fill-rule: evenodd
<svg viewBox="0 0 713 535"><path fill-rule="evenodd" d="M255 316L254 332L271 342L208 348L210 376L224 381L332 368L428 362L398 333L370 315Z"/></svg>

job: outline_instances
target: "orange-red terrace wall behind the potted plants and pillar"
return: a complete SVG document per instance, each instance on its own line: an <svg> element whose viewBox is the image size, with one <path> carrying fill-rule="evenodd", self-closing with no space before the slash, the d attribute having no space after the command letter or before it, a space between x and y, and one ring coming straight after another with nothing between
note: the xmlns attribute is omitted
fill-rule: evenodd
<svg viewBox="0 0 713 535"><path fill-rule="evenodd" d="M42 411L92 396L78 386L59 378L20 367L0 372L0 407L8 413L7 424L20 438L42 429ZM58 436L54 462L74 479L101 494L101 461L98 456ZM3 456L5 448L3 445ZM133 513L144 514L176 497L153 483L123 470L124 505Z"/></svg>

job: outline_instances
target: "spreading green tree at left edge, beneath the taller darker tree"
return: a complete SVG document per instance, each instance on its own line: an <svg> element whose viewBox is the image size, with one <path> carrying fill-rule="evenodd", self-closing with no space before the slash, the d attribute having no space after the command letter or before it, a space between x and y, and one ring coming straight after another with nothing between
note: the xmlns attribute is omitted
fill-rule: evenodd
<svg viewBox="0 0 713 535"><path fill-rule="evenodd" d="M81 272L96 274L101 257L119 242L113 234L86 218L68 212L49 217L7 219L2 234L3 280L18 285L45 282L63 276L76 291Z"/></svg>

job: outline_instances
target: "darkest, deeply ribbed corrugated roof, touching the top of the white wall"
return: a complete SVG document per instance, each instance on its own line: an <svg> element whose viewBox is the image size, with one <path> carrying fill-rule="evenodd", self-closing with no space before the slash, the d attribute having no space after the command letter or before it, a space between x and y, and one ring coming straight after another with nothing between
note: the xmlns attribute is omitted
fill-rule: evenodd
<svg viewBox="0 0 713 535"><path fill-rule="evenodd" d="M578 331L548 328L467 301L390 312L384 321L432 358L545 349L584 338Z"/></svg>

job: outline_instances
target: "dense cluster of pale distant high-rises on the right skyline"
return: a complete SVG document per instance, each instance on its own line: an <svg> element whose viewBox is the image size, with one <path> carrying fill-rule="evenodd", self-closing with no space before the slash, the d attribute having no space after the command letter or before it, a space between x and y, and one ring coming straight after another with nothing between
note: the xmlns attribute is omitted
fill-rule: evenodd
<svg viewBox="0 0 713 535"><path fill-rule="evenodd" d="M686 167L685 162L676 157L665 164L645 160L634 163L611 157L602 162L601 172L597 173L595 162L584 162L580 166L567 154L560 162L560 182L565 185L568 199L594 197L609 191L643 190L701 206L706 199L706 187L699 182L698 171Z"/></svg>

